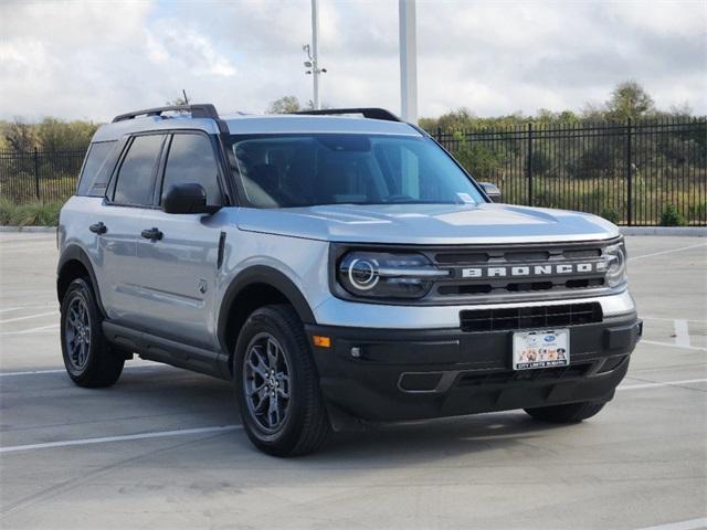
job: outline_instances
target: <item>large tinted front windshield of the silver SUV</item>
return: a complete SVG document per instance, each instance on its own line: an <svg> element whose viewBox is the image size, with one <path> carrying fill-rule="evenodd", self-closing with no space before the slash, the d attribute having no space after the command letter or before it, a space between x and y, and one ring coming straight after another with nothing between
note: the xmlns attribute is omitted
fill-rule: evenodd
<svg viewBox="0 0 707 530"><path fill-rule="evenodd" d="M232 137L231 148L236 178L258 208L484 202L429 138L268 135Z"/></svg>

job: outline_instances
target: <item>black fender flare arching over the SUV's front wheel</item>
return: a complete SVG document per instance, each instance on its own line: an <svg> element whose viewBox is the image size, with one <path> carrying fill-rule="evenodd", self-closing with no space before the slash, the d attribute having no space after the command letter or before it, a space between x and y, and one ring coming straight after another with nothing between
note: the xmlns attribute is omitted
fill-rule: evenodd
<svg viewBox="0 0 707 530"><path fill-rule="evenodd" d="M221 301L217 332L224 351L226 344L225 329L229 324L229 314L231 312L233 301L243 292L243 289L254 284L265 284L279 290L295 308L295 311L303 324L316 324L314 312L312 311L307 299L292 279L289 279L284 273L271 266L253 265L240 272L235 278L233 278Z"/></svg>

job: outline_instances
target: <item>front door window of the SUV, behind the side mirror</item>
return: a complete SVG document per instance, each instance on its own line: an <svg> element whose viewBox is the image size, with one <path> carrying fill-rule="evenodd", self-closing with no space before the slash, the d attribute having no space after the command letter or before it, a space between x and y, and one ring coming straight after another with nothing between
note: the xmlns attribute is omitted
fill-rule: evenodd
<svg viewBox="0 0 707 530"><path fill-rule="evenodd" d="M219 165L213 147L203 135L176 134L167 157L160 203L172 186L198 183L207 191L207 204L223 204Z"/></svg>

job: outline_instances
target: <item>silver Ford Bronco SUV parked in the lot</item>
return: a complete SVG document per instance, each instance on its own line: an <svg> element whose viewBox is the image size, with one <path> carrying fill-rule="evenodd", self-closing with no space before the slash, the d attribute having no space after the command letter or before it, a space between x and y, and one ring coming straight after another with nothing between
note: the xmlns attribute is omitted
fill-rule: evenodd
<svg viewBox="0 0 707 530"><path fill-rule="evenodd" d="M498 198L382 109L117 116L61 212L66 370L106 386L137 353L231 381L281 456L370 422L588 418L642 332L622 237Z"/></svg>

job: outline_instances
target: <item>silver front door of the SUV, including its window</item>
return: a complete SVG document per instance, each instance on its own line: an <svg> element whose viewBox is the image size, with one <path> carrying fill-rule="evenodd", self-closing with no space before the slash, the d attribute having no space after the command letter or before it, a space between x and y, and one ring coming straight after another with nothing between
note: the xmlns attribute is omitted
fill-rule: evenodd
<svg viewBox="0 0 707 530"><path fill-rule="evenodd" d="M223 205L223 177L215 140L199 131L173 132L166 145L163 181L156 204L170 187L199 183L210 205ZM225 212L213 215L171 214L146 210L141 230L157 230L160 239L140 239L143 322L147 331L189 346L218 349L214 329L214 294L221 233Z"/></svg>

